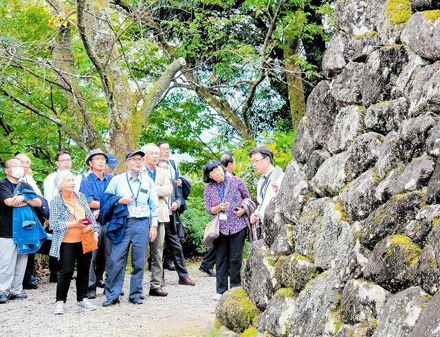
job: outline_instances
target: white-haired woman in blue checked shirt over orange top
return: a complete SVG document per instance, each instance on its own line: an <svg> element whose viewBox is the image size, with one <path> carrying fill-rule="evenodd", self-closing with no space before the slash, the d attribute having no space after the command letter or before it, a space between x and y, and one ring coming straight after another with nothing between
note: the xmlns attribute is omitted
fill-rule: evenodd
<svg viewBox="0 0 440 337"><path fill-rule="evenodd" d="M64 314L64 305L76 264L76 309L96 309L87 299L91 252L83 253L82 232L98 232L85 195L75 192L75 177L69 171L59 172L54 184L58 195L50 202L50 228L54 231L50 255L60 260L60 276L56 285L54 314Z"/></svg>

